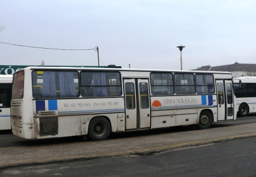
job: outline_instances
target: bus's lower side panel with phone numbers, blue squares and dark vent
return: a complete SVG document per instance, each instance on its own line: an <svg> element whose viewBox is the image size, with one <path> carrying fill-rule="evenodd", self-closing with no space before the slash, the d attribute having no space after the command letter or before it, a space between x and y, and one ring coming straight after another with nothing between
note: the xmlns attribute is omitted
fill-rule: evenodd
<svg viewBox="0 0 256 177"><path fill-rule="evenodd" d="M110 111L114 113L109 113ZM124 131L124 113L115 113L123 111L123 98L113 98L111 101L105 98L34 100L34 136L38 139L84 135L88 133L90 120L98 116L110 120L112 132ZM57 132L42 135L45 130L40 130L40 128L45 126L42 127L40 122L42 124L43 119L54 120L54 117L57 117L57 126L52 121L50 121L52 125L43 124L46 128L53 126Z"/></svg>

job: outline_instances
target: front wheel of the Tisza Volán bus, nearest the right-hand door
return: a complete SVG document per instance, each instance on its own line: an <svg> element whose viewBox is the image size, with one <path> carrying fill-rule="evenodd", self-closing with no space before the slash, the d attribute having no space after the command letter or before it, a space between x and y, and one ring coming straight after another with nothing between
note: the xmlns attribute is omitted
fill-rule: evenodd
<svg viewBox="0 0 256 177"><path fill-rule="evenodd" d="M213 123L213 115L209 111L202 111L197 124L198 129L210 128Z"/></svg>

